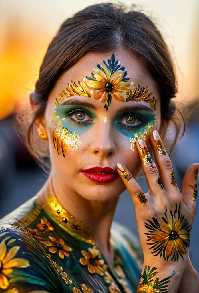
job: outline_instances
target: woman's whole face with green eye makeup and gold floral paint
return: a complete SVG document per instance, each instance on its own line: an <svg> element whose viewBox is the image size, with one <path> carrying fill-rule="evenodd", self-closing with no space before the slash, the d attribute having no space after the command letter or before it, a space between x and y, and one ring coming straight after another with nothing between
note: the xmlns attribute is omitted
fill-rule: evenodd
<svg viewBox="0 0 199 293"><path fill-rule="evenodd" d="M161 123L157 84L143 64L121 48L112 54L91 52L82 57L57 81L45 111L53 172L85 199L99 202L111 201L125 190L117 162L138 176L141 162L133 142L141 135L147 139ZM83 81L84 95L77 94L78 81ZM134 98L131 89L137 85L148 86L152 95L134 92Z"/></svg>

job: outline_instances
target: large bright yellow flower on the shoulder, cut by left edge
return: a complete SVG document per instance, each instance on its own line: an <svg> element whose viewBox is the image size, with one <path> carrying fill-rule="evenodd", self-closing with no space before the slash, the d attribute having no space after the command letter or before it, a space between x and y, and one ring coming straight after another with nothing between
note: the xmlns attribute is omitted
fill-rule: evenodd
<svg viewBox="0 0 199 293"><path fill-rule="evenodd" d="M20 246L13 246L7 251L5 240L0 244L0 288L9 286L7 275L13 272L13 268L28 268L30 263L24 258L14 258Z"/></svg>

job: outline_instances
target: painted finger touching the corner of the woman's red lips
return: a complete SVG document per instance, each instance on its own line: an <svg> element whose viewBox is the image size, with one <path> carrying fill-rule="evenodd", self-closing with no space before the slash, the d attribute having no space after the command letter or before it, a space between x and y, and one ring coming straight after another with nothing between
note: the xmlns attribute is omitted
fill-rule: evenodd
<svg viewBox="0 0 199 293"><path fill-rule="evenodd" d="M117 163L116 168L120 178L122 179L124 185L128 189L129 194L131 195L134 205L137 205L138 203L147 203L148 199L143 193L142 188L131 176L131 173L128 171L128 169L121 163Z"/></svg>

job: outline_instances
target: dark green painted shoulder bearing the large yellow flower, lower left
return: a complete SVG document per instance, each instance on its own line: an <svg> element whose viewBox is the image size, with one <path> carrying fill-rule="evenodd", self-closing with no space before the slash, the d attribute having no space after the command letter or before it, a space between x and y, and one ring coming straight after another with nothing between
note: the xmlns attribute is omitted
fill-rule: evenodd
<svg viewBox="0 0 199 293"><path fill-rule="evenodd" d="M51 260L23 227L0 227L0 260L0 292L59 292Z"/></svg>

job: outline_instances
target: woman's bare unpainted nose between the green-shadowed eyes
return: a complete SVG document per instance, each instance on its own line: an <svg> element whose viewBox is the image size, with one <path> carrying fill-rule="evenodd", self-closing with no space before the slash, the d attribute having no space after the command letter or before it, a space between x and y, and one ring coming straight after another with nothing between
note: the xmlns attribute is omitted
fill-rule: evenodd
<svg viewBox="0 0 199 293"><path fill-rule="evenodd" d="M116 145L114 142L114 134L111 125L100 124L93 133L91 151L93 154L99 156L114 155L116 152Z"/></svg>

